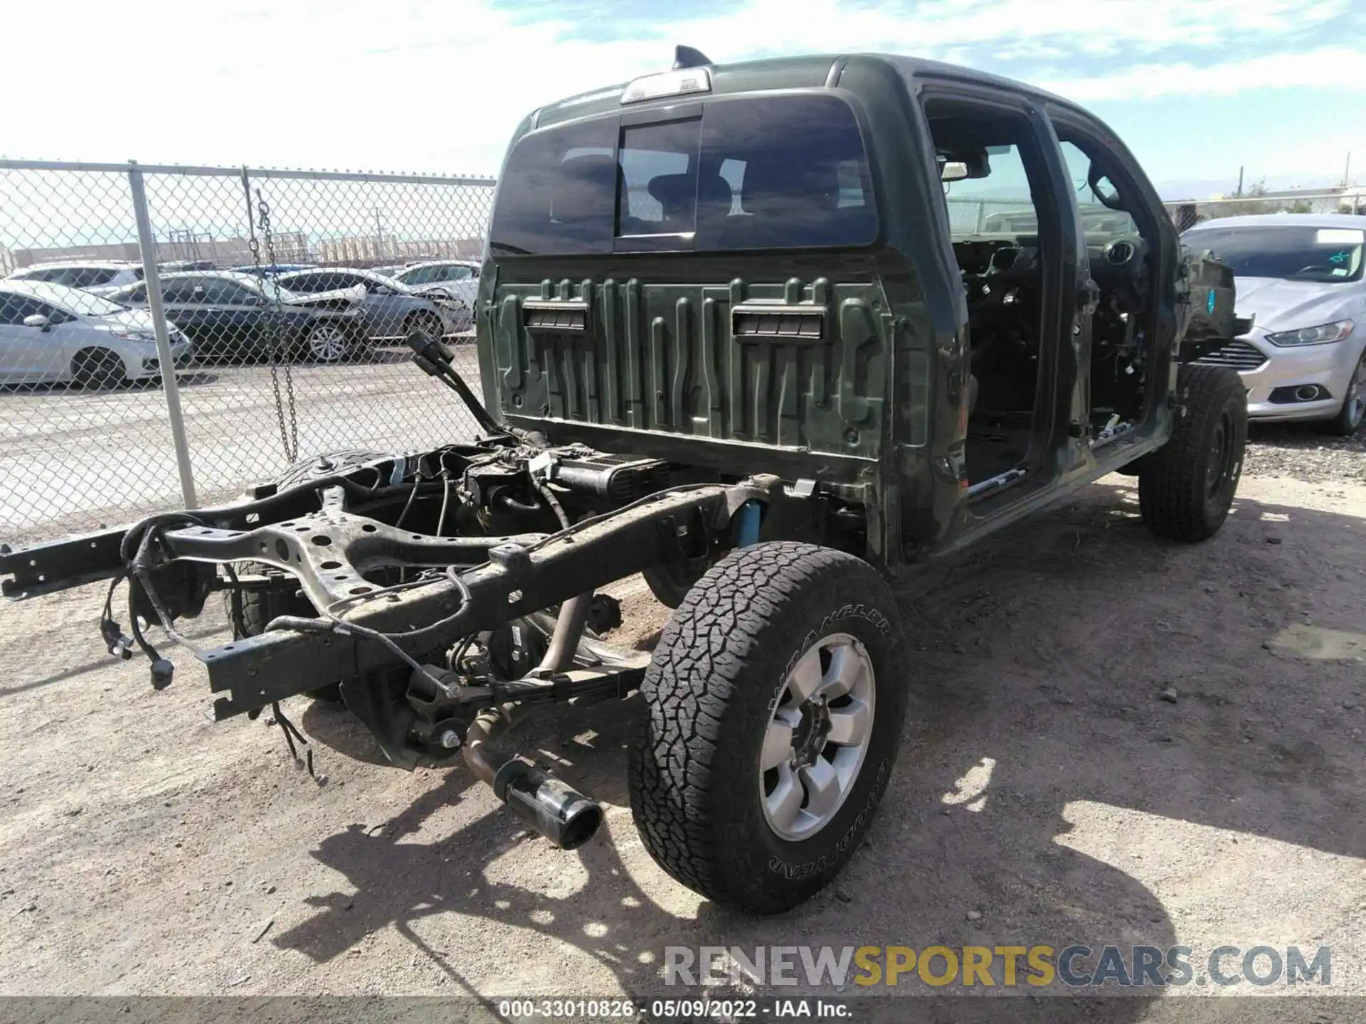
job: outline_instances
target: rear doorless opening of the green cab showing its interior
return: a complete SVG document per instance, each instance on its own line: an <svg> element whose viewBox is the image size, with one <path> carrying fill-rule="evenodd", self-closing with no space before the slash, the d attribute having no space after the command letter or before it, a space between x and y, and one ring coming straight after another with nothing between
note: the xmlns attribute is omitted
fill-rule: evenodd
<svg viewBox="0 0 1366 1024"><path fill-rule="evenodd" d="M978 485L1023 466L1034 440L1050 255L1034 195L1046 179L1022 115L956 100L932 100L926 115L967 294L967 471Z"/></svg>

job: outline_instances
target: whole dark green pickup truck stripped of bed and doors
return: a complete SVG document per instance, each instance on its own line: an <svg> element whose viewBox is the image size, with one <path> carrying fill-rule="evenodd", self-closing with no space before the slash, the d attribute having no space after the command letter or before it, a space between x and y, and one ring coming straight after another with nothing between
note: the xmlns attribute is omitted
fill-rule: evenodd
<svg viewBox="0 0 1366 1024"><path fill-rule="evenodd" d="M1162 538L1227 516L1232 276L1134 157L1029 86L892 56L675 67L531 113L475 309L474 441L324 457L236 504L0 550L4 593L127 582L111 653L205 665L217 718L331 689L395 765L463 756L560 847L600 807L500 750L510 711L637 717L635 822L675 878L776 912L891 784L914 662L885 580L1112 472ZM598 587L673 608L604 642ZM236 639L176 620L224 591ZM160 642L160 640L158 640ZM639 691L638 698L622 698Z"/></svg>

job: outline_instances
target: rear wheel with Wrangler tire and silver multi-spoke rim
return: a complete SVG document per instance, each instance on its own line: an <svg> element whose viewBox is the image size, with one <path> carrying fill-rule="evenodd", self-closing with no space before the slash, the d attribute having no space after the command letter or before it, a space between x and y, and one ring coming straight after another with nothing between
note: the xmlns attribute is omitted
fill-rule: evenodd
<svg viewBox="0 0 1366 1024"><path fill-rule="evenodd" d="M826 885L896 759L899 638L887 584L843 552L762 543L713 565L641 685L631 812L660 866L754 913Z"/></svg>

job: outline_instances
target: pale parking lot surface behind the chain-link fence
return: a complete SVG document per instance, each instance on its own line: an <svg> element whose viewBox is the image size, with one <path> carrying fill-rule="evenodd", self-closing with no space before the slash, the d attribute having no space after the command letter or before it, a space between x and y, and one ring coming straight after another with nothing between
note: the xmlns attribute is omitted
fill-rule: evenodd
<svg viewBox="0 0 1366 1024"><path fill-rule="evenodd" d="M478 390L473 345L456 345L456 366ZM460 400L413 366L407 348L290 373L303 453L357 448L358 438L407 452L470 436ZM231 498L290 463L269 366L209 365L178 377L201 505ZM178 479L160 388L0 388L0 524L8 524L0 541L60 537L180 507Z"/></svg>

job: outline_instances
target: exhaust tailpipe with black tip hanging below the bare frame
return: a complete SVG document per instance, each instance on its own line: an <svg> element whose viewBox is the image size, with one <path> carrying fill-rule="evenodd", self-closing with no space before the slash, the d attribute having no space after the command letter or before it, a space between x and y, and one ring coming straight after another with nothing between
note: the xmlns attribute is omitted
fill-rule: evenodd
<svg viewBox="0 0 1366 1024"><path fill-rule="evenodd" d="M486 710L470 722L460 751L464 763L479 780L493 786L499 800L512 814L556 847L582 847L602 823L602 808L549 771L494 750L489 744L489 735L499 721L496 710Z"/></svg>

